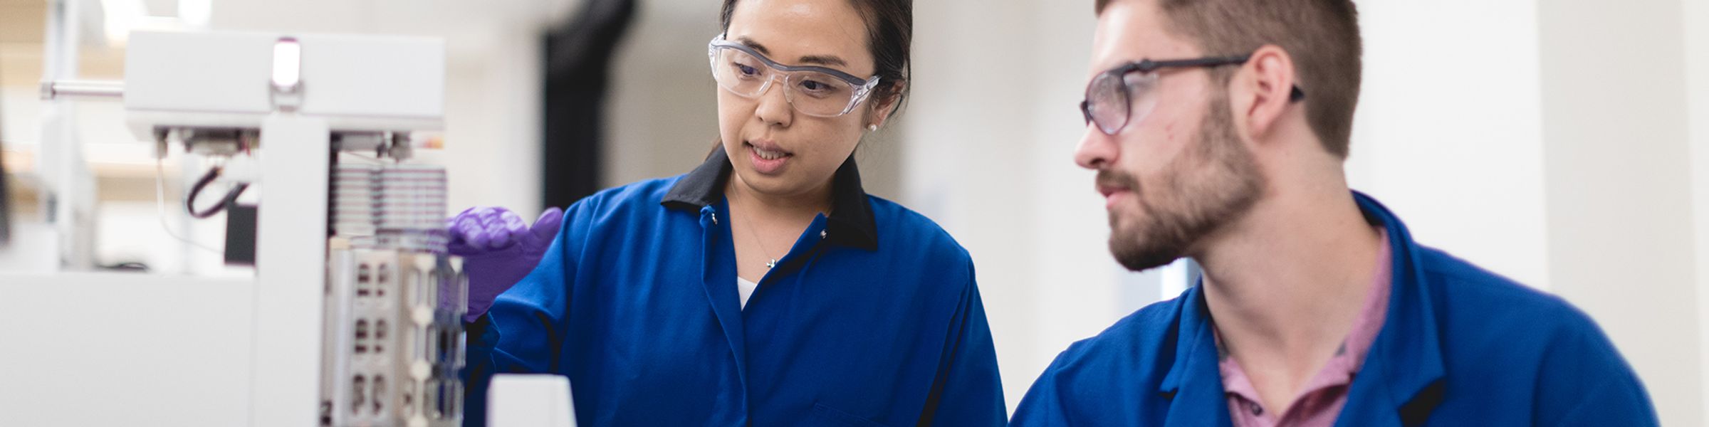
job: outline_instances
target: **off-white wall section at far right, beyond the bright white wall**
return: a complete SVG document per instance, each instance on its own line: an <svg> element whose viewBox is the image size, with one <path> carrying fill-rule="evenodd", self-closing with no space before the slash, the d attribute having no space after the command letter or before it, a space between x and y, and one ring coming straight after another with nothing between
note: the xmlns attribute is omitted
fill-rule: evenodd
<svg viewBox="0 0 1709 427"><path fill-rule="evenodd" d="M1700 425L1685 2L1538 2L1552 289Z"/></svg>

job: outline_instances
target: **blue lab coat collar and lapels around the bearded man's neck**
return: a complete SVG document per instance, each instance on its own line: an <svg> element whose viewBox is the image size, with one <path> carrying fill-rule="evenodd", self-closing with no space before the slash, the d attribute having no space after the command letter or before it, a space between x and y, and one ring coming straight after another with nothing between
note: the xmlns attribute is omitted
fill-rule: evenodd
<svg viewBox="0 0 1709 427"><path fill-rule="evenodd" d="M1359 191L1354 191L1354 200L1367 220L1388 229L1393 292L1388 318L1354 379L1336 424L1401 425L1403 418L1422 420L1441 400L1441 381L1446 376L1432 292L1418 268L1424 261L1407 225L1393 212ZM1172 396L1169 425L1205 420L1229 425L1203 284L1189 289L1178 309L1174 364L1157 388L1157 393Z"/></svg>

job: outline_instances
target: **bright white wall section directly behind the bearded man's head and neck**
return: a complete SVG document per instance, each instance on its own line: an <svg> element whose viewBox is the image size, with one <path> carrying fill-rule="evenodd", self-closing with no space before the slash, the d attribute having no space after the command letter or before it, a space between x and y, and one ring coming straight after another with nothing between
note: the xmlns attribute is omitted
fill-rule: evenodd
<svg viewBox="0 0 1709 427"><path fill-rule="evenodd" d="M1348 184L1429 246L1548 289L1535 2L1359 2Z"/></svg>

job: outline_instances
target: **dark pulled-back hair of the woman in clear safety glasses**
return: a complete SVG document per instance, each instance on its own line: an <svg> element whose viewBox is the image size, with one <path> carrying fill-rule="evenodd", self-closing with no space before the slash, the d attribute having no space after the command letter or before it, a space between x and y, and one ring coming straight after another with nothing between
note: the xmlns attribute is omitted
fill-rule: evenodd
<svg viewBox="0 0 1709 427"><path fill-rule="evenodd" d="M880 77L866 102L896 101L901 109L907 99L911 77L911 55L914 44L914 2L913 0L848 0L866 20L866 48L872 50L873 75ZM725 0L718 14L719 29L730 31L730 15L737 10L737 0Z"/></svg>

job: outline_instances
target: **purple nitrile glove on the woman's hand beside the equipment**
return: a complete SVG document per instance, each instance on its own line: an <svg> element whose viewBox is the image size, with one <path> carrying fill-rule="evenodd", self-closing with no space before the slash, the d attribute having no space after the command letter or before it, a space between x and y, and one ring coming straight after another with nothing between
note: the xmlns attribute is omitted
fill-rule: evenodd
<svg viewBox="0 0 1709 427"><path fill-rule="evenodd" d="M472 207L444 220L451 232L451 254L463 256L468 277L468 313L475 321L492 307L492 299L523 280L564 225L564 210L547 208L528 227L516 212L501 207Z"/></svg>

